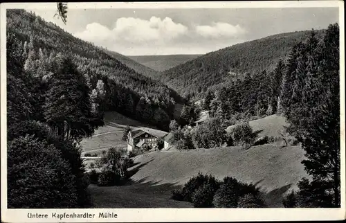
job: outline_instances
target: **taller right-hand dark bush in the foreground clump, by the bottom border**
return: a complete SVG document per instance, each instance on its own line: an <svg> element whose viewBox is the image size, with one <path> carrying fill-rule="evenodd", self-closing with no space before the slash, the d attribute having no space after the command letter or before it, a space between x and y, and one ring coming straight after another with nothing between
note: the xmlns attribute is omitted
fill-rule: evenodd
<svg viewBox="0 0 346 223"><path fill-rule="evenodd" d="M233 177L225 177L219 190L215 193L213 204L217 208L236 208L240 197L260 194L253 184L242 183Z"/></svg>

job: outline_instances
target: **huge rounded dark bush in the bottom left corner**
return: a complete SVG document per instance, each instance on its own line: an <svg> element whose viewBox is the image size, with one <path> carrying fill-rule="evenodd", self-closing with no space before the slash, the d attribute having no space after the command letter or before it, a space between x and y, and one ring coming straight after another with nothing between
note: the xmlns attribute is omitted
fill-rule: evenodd
<svg viewBox="0 0 346 223"><path fill-rule="evenodd" d="M35 136L8 142L8 208L78 208L76 177L60 150Z"/></svg>

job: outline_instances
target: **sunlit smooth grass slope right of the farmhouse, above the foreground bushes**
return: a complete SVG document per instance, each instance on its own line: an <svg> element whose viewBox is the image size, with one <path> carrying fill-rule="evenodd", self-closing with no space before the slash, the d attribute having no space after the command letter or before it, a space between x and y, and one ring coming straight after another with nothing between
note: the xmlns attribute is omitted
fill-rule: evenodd
<svg viewBox="0 0 346 223"><path fill-rule="evenodd" d="M304 151L299 146L258 145L248 150L239 147L153 152L137 157L143 165L132 176L134 181L183 185L198 172L235 177L257 184L266 193L266 203L282 206L282 196L295 188L302 177L308 177L300 163ZM136 168L136 166L134 167Z"/></svg>

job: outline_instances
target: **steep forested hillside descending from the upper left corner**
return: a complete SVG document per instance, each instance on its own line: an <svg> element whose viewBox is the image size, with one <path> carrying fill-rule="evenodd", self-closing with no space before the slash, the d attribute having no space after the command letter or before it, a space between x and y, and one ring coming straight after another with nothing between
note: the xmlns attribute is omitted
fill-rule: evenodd
<svg viewBox="0 0 346 223"><path fill-rule="evenodd" d="M51 62L55 57L69 55L86 78L92 98L102 111L119 111L167 127L176 102L181 102L181 97L165 84L137 73L101 48L73 37L33 13L8 10L7 30L24 49L26 71L42 80L51 77L54 71Z"/></svg>

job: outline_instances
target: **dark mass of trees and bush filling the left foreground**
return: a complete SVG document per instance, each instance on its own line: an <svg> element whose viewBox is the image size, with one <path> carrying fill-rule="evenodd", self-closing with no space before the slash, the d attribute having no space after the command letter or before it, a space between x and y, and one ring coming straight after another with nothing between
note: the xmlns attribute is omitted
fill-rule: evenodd
<svg viewBox="0 0 346 223"><path fill-rule="evenodd" d="M73 97L89 100L81 75L64 79L68 75L65 71L75 71L68 58L50 57L50 72L37 69L31 60L33 42L24 44L23 48L13 33L7 34L8 206L84 208L90 204L89 182L77 143L83 136L92 134L102 123L102 117L98 116L94 122L90 119L93 114L88 103L69 107L71 98L60 95L63 93L60 87L68 86ZM42 55L39 51L40 58ZM26 57L30 60L26 61ZM71 86L76 79L81 80L81 84ZM54 87L56 91L51 90ZM51 100L46 100L48 92ZM44 106L53 102L53 98L59 102L51 103L49 114L45 114ZM61 116L66 112L68 115ZM68 131L63 131L66 125L69 125ZM23 138L27 135L32 138Z"/></svg>

